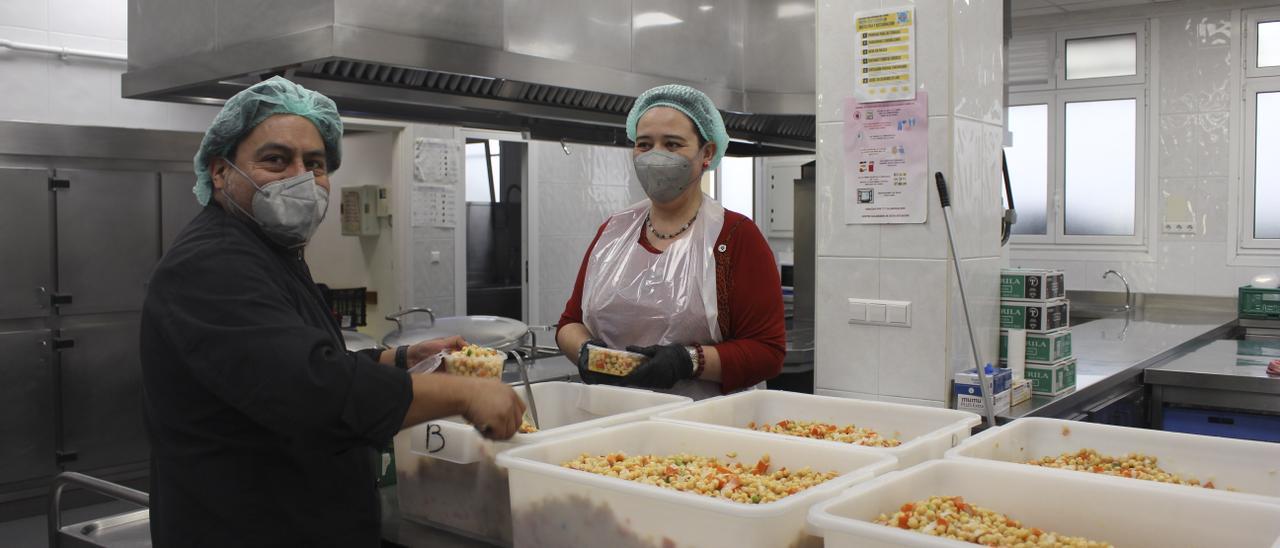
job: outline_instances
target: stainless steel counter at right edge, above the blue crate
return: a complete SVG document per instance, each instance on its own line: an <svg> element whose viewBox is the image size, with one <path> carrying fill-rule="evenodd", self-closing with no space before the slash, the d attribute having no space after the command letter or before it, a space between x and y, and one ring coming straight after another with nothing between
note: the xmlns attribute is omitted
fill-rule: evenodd
<svg viewBox="0 0 1280 548"><path fill-rule="evenodd" d="M1277 341L1215 341L1148 369L1144 379L1161 405L1280 414L1280 378L1266 374L1275 359L1280 359Z"/></svg>

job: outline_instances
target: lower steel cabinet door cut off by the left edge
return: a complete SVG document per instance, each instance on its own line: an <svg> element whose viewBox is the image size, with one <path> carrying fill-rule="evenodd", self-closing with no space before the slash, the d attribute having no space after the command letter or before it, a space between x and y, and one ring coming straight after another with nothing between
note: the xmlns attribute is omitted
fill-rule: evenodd
<svg viewBox="0 0 1280 548"><path fill-rule="evenodd" d="M58 472L49 343L49 330L0 332L0 484Z"/></svg>

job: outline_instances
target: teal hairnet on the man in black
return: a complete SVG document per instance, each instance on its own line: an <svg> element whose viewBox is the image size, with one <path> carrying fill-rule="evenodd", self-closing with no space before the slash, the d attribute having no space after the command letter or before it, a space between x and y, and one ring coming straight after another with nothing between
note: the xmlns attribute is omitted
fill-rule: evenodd
<svg viewBox="0 0 1280 548"><path fill-rule="evenodd" d="M209 163L234 152L241 140L275 114L297 114L311 120L324 140L326 170L338 170L342 164L342 118L338 115L338 106L329 97L276 76L228 99L205 131L193 160L196 187L192 192L200 205L207 205L214 191Z"/></svg>

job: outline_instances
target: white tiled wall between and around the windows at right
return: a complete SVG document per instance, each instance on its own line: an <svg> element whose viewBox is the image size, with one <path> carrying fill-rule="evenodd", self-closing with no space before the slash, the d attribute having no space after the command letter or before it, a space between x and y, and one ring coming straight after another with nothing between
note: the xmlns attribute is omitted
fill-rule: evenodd
<svg viewBox="0 0 1280 548"><path fill-rule="evenodd" d="M1194 234L1148 233L1152 257L1082 259L1080 254L1038 254L1034 259L1014 247L1015 266L1060 268L1069 289L1124 291L1115 278L1124 274L1134 292L1224 296L1253 275L1280 269L1235 265L1230 254L1236 234L1230 229L1230 195L1240 186L1243 160L1243 95L1239 74L1243 52L1239 9L1257 1L1171 3L1165 8L1119 9L1055 18L1015 19L1014 32L1088 28L1125 20L1148 22L1149 114L1148 154L1153 155L1146 183L1156 195L1157 222L1187 216ZM1266 4L1266 3L1262 3ZM1274 3L1271 3L1274 4ZM1234 159L1234 160L1233 160ZM1171 211L1170 211L1171 209ZM1162 224L1161 224L1162 225ZM1056 256L1053 256L1056 255Z"/></svg>

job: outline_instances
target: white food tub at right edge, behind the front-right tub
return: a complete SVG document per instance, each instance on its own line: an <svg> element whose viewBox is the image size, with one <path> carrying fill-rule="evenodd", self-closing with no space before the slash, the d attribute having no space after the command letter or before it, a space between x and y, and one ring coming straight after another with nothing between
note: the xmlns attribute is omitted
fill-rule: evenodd
<svg viewBox="0 0 1280 548"><path fill-rule="evenodd" d="M947 458L1025 463L1033 458L1096 449L1103 455L1142 453L1156 466L1181 478L1213 481L1215 489L1175 485L1180 490L1235 494L1280 503L1280 444L1210 435L1074 423L1057 419L1018 419L969 438L947 452ZM1039 466L1023 466L1039 469ZM1155 483L1061 469L1052 472L1101 476L1123 483ZM1235 489L1231 493L1229 489Z"/></svg>

